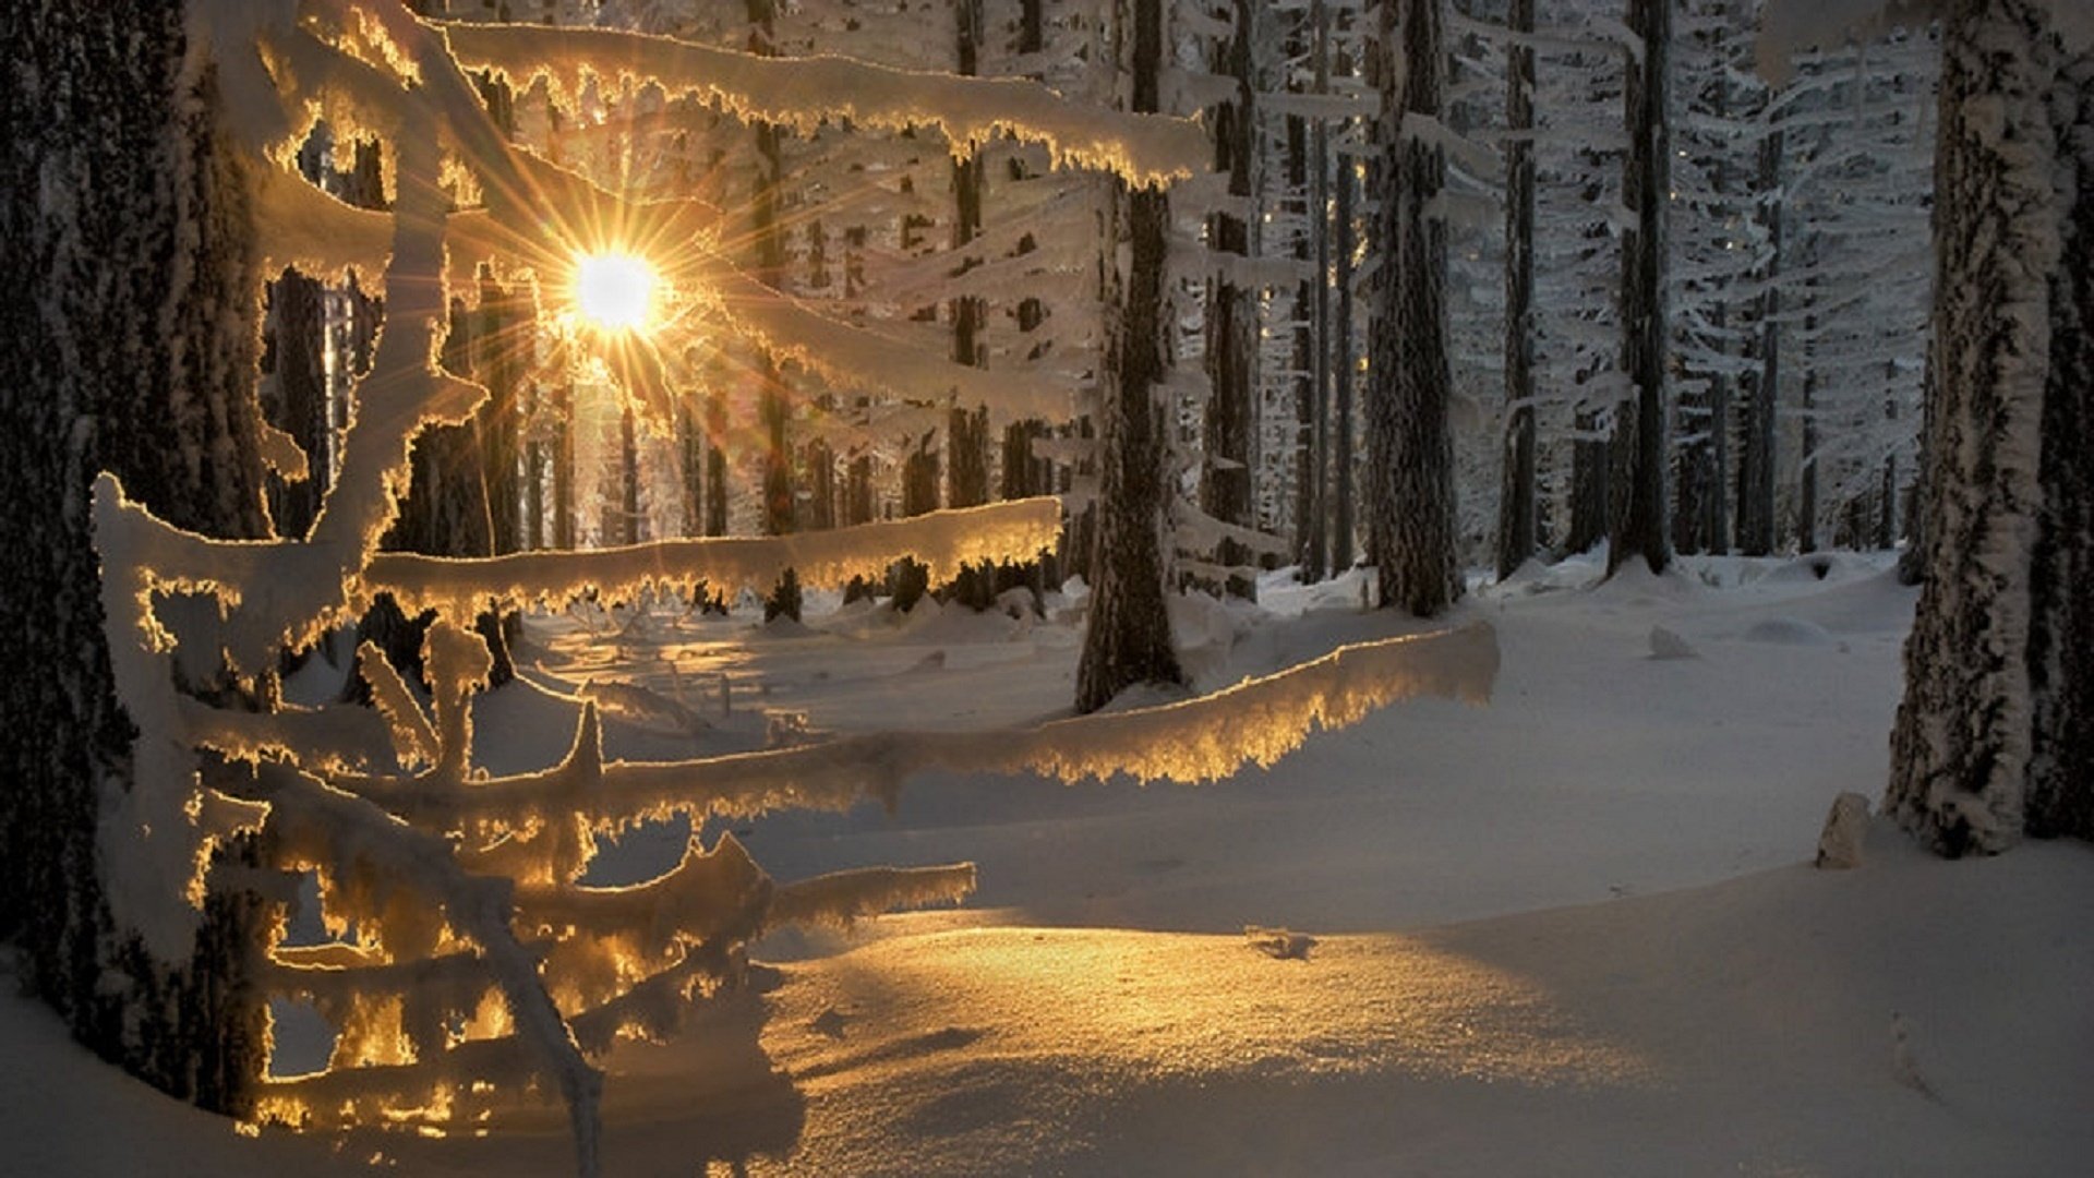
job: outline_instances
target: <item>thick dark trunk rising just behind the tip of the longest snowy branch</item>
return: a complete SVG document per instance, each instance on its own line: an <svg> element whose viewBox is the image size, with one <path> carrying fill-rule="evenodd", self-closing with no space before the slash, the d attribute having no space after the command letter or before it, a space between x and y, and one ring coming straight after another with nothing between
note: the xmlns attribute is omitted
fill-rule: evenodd
<svg viewBox="0 0 2094 1178"><path fill-rule="evenodd" d="M1401 13L1399 13L1401 10ZM1455 562L1453 381L1447 367L1447 159L1441 4L1382 6L1382 193L1369 342L1367 484L1380 604L1428 618L1462 595Z"/></svg>

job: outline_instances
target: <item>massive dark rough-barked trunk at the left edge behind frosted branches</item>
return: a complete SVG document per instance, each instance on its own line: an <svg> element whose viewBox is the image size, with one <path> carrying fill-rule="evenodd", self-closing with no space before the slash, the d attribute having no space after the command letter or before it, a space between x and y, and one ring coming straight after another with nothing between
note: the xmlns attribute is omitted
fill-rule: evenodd
<svg viewBox="0 0 2094 1178"><path fill-rule="evenodd" d="M90 535L90 482L117 472L163 520L262 537L253 367L262 275L218 92L184 54L178 4L15 4L0 23L0 652L10 729L0 788L0 937L23 979L105 1059L241 1113L266 1015L260 901L205 901L186 962L115 926L96 849L132 788ZM207 683L195 683L207 688Z"/></svg>

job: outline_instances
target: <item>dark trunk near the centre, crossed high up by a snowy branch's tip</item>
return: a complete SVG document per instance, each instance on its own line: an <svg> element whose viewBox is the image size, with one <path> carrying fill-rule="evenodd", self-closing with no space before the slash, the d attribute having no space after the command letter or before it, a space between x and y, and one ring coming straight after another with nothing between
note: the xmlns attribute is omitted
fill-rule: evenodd
<svg viewBox="0 0 2094 1178"><path fill-rule="evenodd" d="M1133 111L1158 111L1164 63L1162 0L1129 0ZM1164 377L1164 268L1171 203L1162 189L1120 184L1129 264L1108 342L1099 407L1097 532L1091 623L1076 664L1076 711L1091 713L1135 683L1179 683L1164 608L1164 472L1168 434L1156 386Z"/></svg>

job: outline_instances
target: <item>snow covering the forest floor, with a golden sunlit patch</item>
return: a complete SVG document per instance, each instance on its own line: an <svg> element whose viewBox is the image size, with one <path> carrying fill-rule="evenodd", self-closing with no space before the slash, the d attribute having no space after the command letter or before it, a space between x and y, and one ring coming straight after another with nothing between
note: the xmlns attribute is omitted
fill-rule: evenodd
<svg viewBox="0 0 2094 1178"><path fill-rule="evenodd" d="M972 859L982 887L773 937L748 994L614 1052L607 1174L2086 1172L2094 849L1945 864L1878 824L1862 870L1807 866L1832 797L1885 778L1914 599L1887 560L1596 576L1527 570L1451 618L1497 629L1487 708L1397 704L1198 788L930 776L894 815L739 824L781 880ZM1183 602L1187 664L1212 690L1424 629L1359 595ZM634 759L1053 719L1081 606L538 618L482 761L557 759L578 692ZM632 834L593 882L683 838ZM0 1054L21 1174L570 1168L557 1109L486 1138L237 1136L19 1000Z"/></svg>

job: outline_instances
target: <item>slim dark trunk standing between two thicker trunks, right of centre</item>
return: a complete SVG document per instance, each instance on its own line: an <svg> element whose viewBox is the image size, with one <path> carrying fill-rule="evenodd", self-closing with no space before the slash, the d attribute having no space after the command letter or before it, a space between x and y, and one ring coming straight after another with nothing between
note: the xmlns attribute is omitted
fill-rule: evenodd
<svg viewBox="0 0 2094 1178"><path fill-rule="evenodd" d="M1512 0L1512 34L1535 31L1535 0ZM1535 50L1506 46L1506 444L1497 576L1535 555Z"/></svg>

